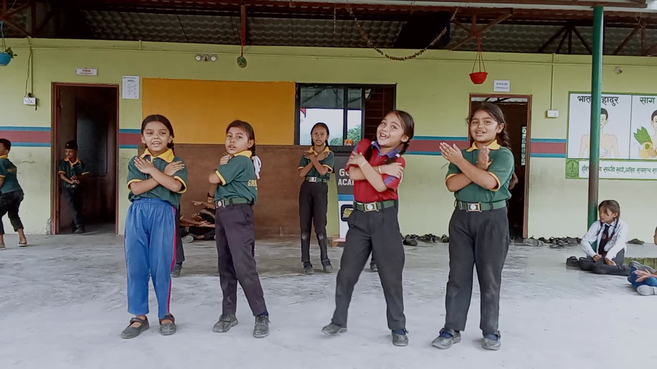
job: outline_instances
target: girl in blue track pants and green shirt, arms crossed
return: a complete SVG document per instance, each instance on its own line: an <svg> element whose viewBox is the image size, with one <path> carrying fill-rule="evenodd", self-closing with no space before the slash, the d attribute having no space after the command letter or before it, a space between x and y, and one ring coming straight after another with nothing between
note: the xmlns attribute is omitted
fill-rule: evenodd
<svg viewBox="0 0 657 369"><path fill-rule="evenodd" d="M132 202L125 219L127 311L133 315L121 337L133 338L148 329L148 277L158 300L160 334L175 333L169 311L171 270L175 265L176 207L187 190L187 169L173 154L173 127L164 116L141 123L147 149L128 163L127 187Z"/></svg>

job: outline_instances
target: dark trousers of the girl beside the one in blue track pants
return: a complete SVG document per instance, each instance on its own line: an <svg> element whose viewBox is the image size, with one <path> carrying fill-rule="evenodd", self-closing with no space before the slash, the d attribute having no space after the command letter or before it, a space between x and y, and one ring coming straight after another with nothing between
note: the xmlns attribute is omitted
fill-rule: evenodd
<svg viewBox="0 0 657 369"><path fill-rule="evenodd" d="M223 292L223 314L237 311L237 282L240 282L254 316L267 311L254 246L256 227L248 204L217 207L215 215L219 280Z"/></svg>

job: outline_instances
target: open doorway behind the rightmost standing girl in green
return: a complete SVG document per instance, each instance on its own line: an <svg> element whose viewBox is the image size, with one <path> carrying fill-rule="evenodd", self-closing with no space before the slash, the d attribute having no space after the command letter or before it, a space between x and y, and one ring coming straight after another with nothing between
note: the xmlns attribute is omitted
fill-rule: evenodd
<svg viewBox="0 0 657 369"><path fill-rule="evenodd" d="M482 102L499 106L507 119L511 151L516 160L518 185L511 190L509 200L509 232L512 238L527 237L529 208L529 161L532 97L529 95L470 95L470 112ZM468 139L469 131L468 131Z"/></svg>

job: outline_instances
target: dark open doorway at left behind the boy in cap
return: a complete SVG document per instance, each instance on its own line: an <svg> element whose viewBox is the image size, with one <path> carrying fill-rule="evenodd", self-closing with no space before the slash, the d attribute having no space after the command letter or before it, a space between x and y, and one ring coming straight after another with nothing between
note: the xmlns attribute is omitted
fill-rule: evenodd
<svg viewBox="0 0 657 369"><path fill-rule="evenodd" d="M118 85L53 83L53 234L72 232L72 214L57 173L70 140L78 142L78 158L89 172L80 185L86 232L118 233L117 136Z"/></svg>

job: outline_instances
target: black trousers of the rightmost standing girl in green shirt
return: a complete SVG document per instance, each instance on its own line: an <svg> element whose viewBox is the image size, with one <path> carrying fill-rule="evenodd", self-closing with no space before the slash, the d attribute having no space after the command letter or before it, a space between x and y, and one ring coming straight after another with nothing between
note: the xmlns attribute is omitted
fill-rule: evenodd
<svg viewBox="0 0 657 369"><path fill-rule="evenodd" d="M472 268L476 267L481 289L479 326L484 333L499 334L499 291L509 243L506 207L481 213L454 210L449 221L445 328L465 330L472 298Z"/></svg>

